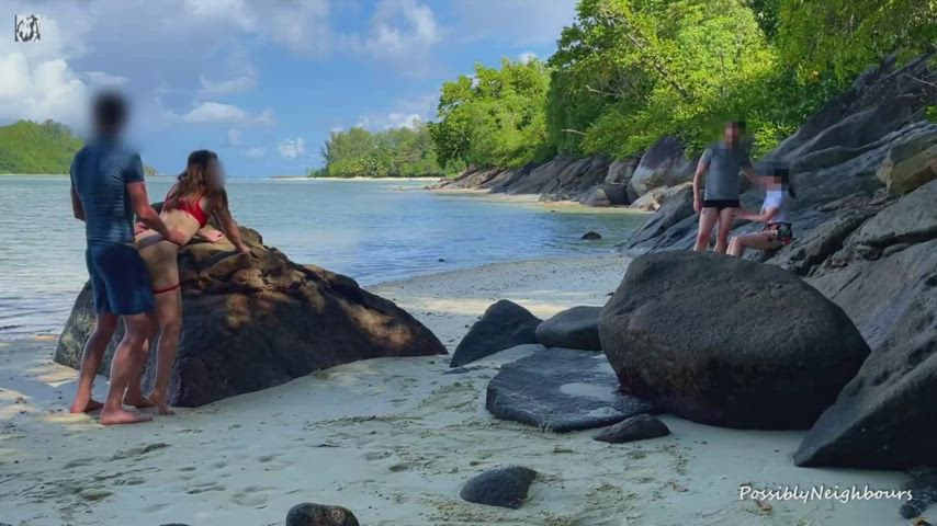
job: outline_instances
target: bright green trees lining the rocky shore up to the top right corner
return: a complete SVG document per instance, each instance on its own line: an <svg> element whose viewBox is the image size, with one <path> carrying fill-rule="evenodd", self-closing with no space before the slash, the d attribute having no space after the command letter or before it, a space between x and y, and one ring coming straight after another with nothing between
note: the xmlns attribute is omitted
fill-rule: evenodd
<svg viewBox="0 0 937 526"><path fill-rule="evenodd" d="M416 130L431 141L402 150L388 133L332 134L325 171L624 158L668 135L698 151L726 119L748 123L757 156L865 68L935 43L937 0L579 0L545 62L477 65L443 83L436 122Z"/></svg>

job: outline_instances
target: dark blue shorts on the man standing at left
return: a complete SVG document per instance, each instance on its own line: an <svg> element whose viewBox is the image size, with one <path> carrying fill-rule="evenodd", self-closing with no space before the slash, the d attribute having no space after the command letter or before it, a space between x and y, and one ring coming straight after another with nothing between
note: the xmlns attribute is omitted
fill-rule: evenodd
<svg viewBox="0 0 937 526"><path fill-rule="evenodd" d="M139 315L154 309L149 271L129 244L91 244L84 252L94 310L99 313Z"/></svg>

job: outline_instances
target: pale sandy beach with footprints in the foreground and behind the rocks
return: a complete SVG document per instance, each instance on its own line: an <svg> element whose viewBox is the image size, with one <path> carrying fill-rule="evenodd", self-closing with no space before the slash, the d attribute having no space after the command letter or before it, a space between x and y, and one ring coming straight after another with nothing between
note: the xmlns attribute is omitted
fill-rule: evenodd
<svg viewBox="0 0 937 526"><path fill-rule="evenodd" d="M601 305L626 260L489 265L383 285L450 348L494 300L539 316ZM13 525L283 524L301 502L340 504L362 525L901 525L895 501L772 502L738 485L869 484L901 473L800 469L802 433L709 427L665 416L673 434L629 445L492 419L488 378L529 352L443 375L445 357L373 359L262 392L181 410L154 423L100 426L64 413L76 373L54 341L0 344L0 523ZM98 390L103 393L104 381ZM517 511L467 504L464 481L496 465L541 476Z"/></svg>

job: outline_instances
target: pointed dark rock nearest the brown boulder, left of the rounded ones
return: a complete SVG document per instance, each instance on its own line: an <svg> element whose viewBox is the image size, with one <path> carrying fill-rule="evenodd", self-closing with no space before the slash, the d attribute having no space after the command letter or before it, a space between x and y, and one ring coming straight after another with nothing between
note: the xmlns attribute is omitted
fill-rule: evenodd
<svg viewBox="0 0 937 526"><path fill-rule="evenodd" d="M535 331L541 321L513 301L501 299L472 325L452 353L449 365L459 367L506 348L537 343Z"/></svg>

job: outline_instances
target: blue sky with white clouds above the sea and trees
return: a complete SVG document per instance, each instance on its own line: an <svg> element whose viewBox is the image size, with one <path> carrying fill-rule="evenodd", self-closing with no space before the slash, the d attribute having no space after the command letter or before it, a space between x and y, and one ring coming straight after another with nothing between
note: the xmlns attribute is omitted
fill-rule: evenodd
<svg viewBox="0 0 937 526"><path fill-rule="evenodd" d="M83 134L88 98L117 88L134 101L131 140L160 171L208 148L234 176L301 174L330 129L431 119L441 83L475 62L550 56L574 12L575 0L4 1L0 19L37 14L42 41L0 35L0 124Z"/></svg>

